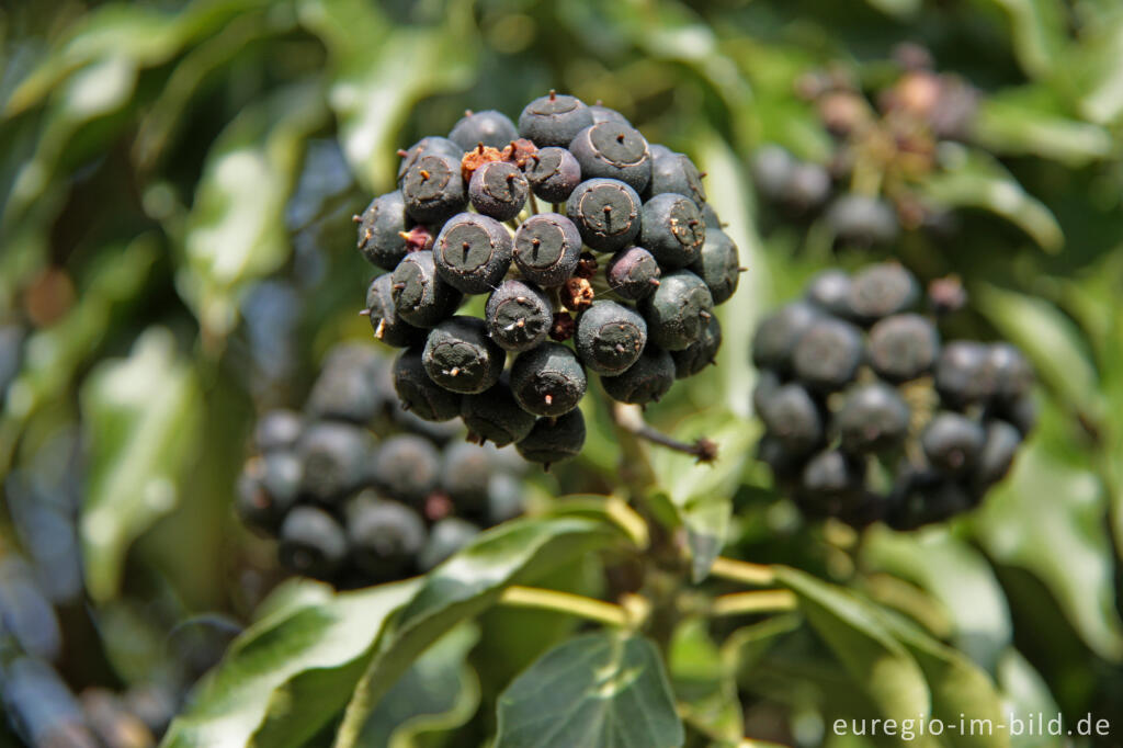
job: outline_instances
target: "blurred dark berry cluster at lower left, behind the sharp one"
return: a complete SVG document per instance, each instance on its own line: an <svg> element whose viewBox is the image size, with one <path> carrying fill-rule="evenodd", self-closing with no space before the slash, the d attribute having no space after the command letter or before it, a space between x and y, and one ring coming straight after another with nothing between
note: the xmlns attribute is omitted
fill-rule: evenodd
<svg viewBox="0 0 1123 748"><path fill-rule="evenodd" d="M390 377L368 346L340 345L302 413L258 420L236 505L287 571L341 587L403 578L522 512L521 460L405 412Z"/></svg>

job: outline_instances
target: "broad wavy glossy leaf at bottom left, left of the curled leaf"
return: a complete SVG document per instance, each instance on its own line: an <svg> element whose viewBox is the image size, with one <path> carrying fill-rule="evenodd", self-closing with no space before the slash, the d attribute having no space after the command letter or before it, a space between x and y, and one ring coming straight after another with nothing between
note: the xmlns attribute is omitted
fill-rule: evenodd
<svg viewBox="0 0 1123 748"><path fill-rule="evenodd" d="M418 585L411 580L338 595L308 591L307 601L282 605L235 640L161 745L254 745L263 721L282 706L289 710L287 740L301 745L344 705L387 617ZM310 674L319 691L294 691L294 681ZM332 702L335 709L326 709Z"/></svg>

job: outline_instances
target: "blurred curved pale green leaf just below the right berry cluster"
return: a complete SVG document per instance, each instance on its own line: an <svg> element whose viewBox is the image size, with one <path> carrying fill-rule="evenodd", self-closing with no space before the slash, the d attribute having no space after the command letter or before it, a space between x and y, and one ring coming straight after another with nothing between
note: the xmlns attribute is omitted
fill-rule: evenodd
<svg viewBox="0 0 1123 748"><path fill-rule="evenodd" d="M994 669L1013 630L1006 596L978 550L942 527L915 533L871 528L861 558L864 566L909 580L931 594L951 617L956 647L984 669Z"/></svg>

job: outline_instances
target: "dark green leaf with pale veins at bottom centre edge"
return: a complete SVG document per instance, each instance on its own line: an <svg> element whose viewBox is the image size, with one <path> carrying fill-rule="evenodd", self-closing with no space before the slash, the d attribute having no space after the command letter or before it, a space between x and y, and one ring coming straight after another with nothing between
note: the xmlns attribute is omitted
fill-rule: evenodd
<svg viewBox="0 0 1123 748"><path fill-rule="evenodd" d="M685 740L659 651L638 636L566 641L499 699L495 748L672 748Z"/></svg>

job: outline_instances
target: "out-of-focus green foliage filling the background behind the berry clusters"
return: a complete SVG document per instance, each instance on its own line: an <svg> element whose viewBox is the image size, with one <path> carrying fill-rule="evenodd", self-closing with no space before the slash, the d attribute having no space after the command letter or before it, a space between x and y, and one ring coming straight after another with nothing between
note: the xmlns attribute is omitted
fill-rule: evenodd
<svg viewBox="0 0 1123 748"><path fill-rule="evenodd" d="M969 84L962 130L933 139L901 193L887 176L900 149L877 161L857 148L853 174L871 168L898 210L915 198L953 228L904 220L894 241L852 247L822 220L778 220L754 189L752 154L779 144L829 165L839 138L801 86L827 74L876 101L904 74L903 43ZM687 527L907 613L1008 703L1123 719L1115 0L17 1L0 9L0 650L6 667L53 663L88 720L127 702L138 742L115 745L163 729L276 580L230 510L235 476L255 413L303 401L332 344L369 339L355 312L371 271L349 217L392 188L398 148L466 108L514 116L550 88L603 100L692 155L750 268L723 308L719 365L649 413L727 441L710 474L659 462ZM748 458L748 340L815 271L886 256L925 280L958 274L971 304L956 332L1020 345L1041 377L1041 418L983 510L858 544L802 524ZM588 416L582 459L541 476L544 492L612 490L612 426ZM424 691L447 718L427 723L435 735L473 719L480 681L493 701L560 636L504 639L527 619L494 615L411 671L412 687L459 677L475 692L465 705ZM672 657L672 677L705 686L712 644L691 635L675 640L687 666L676 674ZM833 675L805 642L763 653L754 642L775 632L739 635L711 660L742 688L746 733L828 739ZM495 655L502 640L511 651L467 667L469 650ZM401 722L393 703L416 702L408 691L384 702L372 740ZM489 729L478 713L457 745ZM722 719L688 722L741 729L740 714Z"/></svg>

